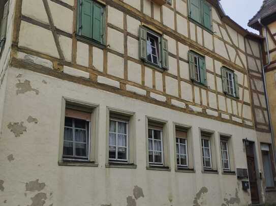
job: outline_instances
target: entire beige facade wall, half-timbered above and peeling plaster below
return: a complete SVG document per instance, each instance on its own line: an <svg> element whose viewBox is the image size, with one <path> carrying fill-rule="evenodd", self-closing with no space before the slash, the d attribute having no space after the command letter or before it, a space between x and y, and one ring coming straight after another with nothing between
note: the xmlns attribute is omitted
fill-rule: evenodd
<svg viewBox="0 0 276 206"><path fill-rule="evenodd" d="M249 191L242 190L235 175L222 174L219 134L231 136L234 171L247 168L245 138L256 143L261 170L260 142L271 141L258 41L227 25L214 7L212 35L189 21L187 1L172 0L171 6L160 7L149 0L103 0L108 47L101 49L76 38L77 1L46 2L49 10L43 1L11 1L17 15L11 24L15 26L13 36L8 33L13 37L13 50L7 80L3 81L7 86L5 92L0 90L0 94L6 93L0 139L4 166L1 199L9 205L32 206L34 202L46 206L251 202ZM148 67L140 60L140 25L168 39L167 71ZM190 80L189 50L205 56L208 87ZM238 75L240 99L223 93L222 66ZM58 166L63 97L98 105L97 167ZM107 107L135 113L136 169L106 167ZM36 120L28 121L29 116ZM169 171L146 170L146 116L167 122ZM194 173L175 171L173 123L191 128ZM216 174L202 173L200 129L213 133ZM25 183L34 184L37 179L36 187L28 190ZM264 202L265 191L259 182ZM134 199L135 186L142 189L144 197Z"/></svg>

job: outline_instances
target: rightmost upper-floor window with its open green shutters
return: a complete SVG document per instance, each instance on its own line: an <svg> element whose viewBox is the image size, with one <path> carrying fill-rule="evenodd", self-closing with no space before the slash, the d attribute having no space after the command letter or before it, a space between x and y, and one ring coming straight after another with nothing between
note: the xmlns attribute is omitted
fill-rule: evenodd
<svg viewBox="0 0 276 206"><path fill-rule="evenodd" d="M230 69L222 67L223 92L227 95L239 98L239 85L237 75Z"/></svg>

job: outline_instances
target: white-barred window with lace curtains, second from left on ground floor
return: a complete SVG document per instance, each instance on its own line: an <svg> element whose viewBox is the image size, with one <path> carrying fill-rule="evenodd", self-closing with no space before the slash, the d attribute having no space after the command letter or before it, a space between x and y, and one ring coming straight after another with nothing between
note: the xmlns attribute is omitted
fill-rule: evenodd
<svg viewBox="0 0 276 206"><path fill-rule="evenodd" d="M117 118L109 120L109 161L128 162L129 121Z"/></svg>

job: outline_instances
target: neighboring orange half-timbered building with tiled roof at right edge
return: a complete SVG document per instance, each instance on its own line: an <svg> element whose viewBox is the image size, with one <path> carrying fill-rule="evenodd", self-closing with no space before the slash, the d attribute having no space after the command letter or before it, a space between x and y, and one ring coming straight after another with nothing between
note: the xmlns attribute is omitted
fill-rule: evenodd
<svg viewBox="0 0 276 206"><path fill-rule="evenodd" d="M262 90L261 92L267 92L268 103L270 107L270 121L272 125L272 130L274 131L273 139L275 145L275 131L276 131L276 0L264 0L260 10L257 14L249 21L249 26L260 31L260 34L266 39L263 40L262 44L262 59L263 59L263 72L265 72L265 82L266 82L266 91ZM267 49L268 46L268 49ZM267 54L267 51L269 55ZM269 57L269 58L268 58ZM258 70L258 72L262 72ZM265 102L265 100L261 100ZM258 102L258 101L257 101ZM261 126L261 125L259 125ZM273 174L269 169L269 158L266 151L262 151L263 155L263 164L264 164L264 175L273 179ZM275 155L275 153L274 153ZM267 181L267 187L271 187ZM267 199L272 198L274 194L267 192Z"/></svg>

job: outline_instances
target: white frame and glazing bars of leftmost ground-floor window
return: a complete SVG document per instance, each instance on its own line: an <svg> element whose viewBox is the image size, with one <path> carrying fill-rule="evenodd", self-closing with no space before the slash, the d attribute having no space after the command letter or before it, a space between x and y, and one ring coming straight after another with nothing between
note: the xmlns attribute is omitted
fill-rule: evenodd
<svg viewBox="0 0 276 206"><path fill-rule="evenodd" d="M64 126L64 129L65 128L72 129L72 131L73 131L73 141L68 141L68 140L65 140L65 138L64 138L64 142L72 142L73 143L73 156L72 155L65 155L63 153L63 159L66 159L66 160L83 160L83 161L87 161L90 158L90 138L89 137L90 137L90 131L91 131L91 122L86 120L86 122L89 122L88 123L88 131L87 131L87 124L85 124L85 129L75 128L75 119L78 119L78 118L73 118L73 117L70 117L70 118L73 119L73 121L72 121L72 127ZM83 120L83 119L81 119L81 120ZM76 150L75 150L75 144L76 143L83 144L83 142L76 142L75 141L75 129L85 130L85 136L86 136L86 156L85 157L84 156L77 156L75 154L75 152L76 152Z"/></svg>

